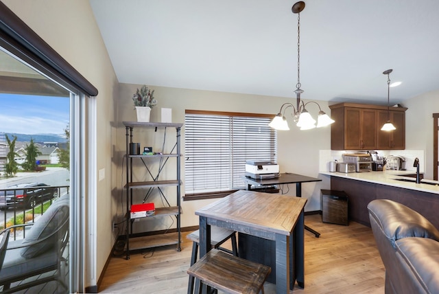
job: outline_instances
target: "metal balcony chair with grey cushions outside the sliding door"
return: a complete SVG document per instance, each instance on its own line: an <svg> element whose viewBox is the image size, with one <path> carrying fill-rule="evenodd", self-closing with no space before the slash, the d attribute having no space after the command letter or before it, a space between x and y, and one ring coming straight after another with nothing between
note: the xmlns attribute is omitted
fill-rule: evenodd
<svg viewBox="0 0 439 294"><path fill-rule="evenodd" d="M69 196L54 201L35 223L13 225L0 234L8 236L12 229L19 227L25 230L25 238L10 241L6 250L0 249L0 258L4 255L0 270L1 293L21 291L51 281L58 281L62 291L68 292L68 283L64 282L67 278L64 253L68 250L64 249L69 242Z"/></svg>

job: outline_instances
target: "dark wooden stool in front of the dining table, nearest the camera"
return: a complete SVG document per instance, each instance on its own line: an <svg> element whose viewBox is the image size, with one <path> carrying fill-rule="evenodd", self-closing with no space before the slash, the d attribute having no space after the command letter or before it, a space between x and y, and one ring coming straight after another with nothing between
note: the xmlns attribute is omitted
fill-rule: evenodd
<svg viewBox="0 0 439 294"><path fill-rule="evenodd" d="M211 249L191 266L187 273L203 284L226 293L263 293L263 284L271 268ZM198 291L199 289L197 289Z"/></svg>

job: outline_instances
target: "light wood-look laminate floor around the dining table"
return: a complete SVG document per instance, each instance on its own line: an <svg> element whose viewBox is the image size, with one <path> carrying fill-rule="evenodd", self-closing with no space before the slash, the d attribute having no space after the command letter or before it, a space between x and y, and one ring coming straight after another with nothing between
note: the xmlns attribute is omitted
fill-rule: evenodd
<svg viewBox="0 0 439 294"><path fill-rule="evenodd" d="M296 284L290 293L384 293L385 269L370 227L322 223L317 214L305 216L305 223L321 235L305 231L305 289ZM187 234L181 252L173 245L133 253L130 260L111 258L99 293L187 293ZM275 293L274 284L266 282L264 289Z"/></svg>

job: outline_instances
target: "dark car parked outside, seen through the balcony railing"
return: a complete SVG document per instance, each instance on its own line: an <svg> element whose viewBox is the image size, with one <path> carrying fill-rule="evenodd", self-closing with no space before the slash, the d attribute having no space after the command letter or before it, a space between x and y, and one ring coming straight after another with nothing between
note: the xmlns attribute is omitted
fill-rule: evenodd
<svg viewBox="0 0 439 294"><path fill-rule="evenodd" d="M58 188L52 188L45 183L19 183L0 190L0 209L32 208L56 196L58 196Z"/></svg>

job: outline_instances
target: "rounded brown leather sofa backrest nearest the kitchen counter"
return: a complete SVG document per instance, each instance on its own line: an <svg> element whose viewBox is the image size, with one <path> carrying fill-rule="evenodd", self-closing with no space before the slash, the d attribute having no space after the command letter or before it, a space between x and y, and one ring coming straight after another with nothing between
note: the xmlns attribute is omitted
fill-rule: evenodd
<svg viewBox="0 0 439 294"><path fill-rule="evenodd" d="M395 247L396 240L407 237L431 238L439 241L439 231L427 218L411 208L388 199L376 199L368 204L372 216Z"/></svg>

